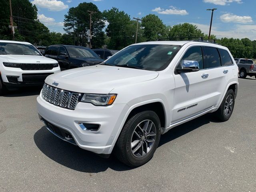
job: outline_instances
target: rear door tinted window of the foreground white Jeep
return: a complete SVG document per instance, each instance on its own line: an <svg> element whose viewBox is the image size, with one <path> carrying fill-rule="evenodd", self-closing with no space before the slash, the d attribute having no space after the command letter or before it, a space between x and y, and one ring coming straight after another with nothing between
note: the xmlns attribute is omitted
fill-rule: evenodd
<svg viewBox="0 0 256 192"><path fill-rule="evenodd" d="M219 66L221 66L221 64L218 50L213 47L204 47L204 68L207 69Z"/></svg>

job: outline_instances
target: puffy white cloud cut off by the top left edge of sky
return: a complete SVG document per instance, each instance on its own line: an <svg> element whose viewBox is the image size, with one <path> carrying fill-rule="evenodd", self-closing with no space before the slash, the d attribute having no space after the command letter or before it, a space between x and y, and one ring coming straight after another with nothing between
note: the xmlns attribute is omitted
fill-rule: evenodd
<svg viewBox="0 0 256 192"><path fill-rule="evenodd" d="M68 8L68 5L59 0L33 0L31 3L37 7L46 8L49 11L61 11Z"/></svg>

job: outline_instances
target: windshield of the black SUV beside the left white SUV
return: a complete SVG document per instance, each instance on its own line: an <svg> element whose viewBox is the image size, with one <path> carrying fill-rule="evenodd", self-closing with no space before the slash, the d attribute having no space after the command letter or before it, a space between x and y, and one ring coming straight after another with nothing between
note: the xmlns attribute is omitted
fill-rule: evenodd
<svg viewBox="0 0 256 192"><path fill-rule="evenodd" d="M100 58L95 52L83 47L66 47L70 57L96 57Z"/></svg>

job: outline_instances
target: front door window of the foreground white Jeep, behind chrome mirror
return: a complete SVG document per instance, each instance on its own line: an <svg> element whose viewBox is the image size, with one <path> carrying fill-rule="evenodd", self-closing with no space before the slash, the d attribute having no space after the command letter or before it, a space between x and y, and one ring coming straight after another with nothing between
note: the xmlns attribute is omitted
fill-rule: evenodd
<svg viewBox="0 0 256 192"><path fill-rule="evenodd" d="M203 64L203 56L202 56L202 49L201 47L191 47L189 48L182 59L180 60L180 63L178 65L178 69L181 68L182 61L184 60L192 60L192 61L197 61L199 63L199 69L203 69L204 64Z"/></svg>

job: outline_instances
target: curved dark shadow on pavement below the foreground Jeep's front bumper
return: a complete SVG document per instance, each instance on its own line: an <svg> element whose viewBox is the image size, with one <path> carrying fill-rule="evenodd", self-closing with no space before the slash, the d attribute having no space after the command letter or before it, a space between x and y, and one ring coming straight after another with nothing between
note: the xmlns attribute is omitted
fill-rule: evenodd
<svg viewBox="0 0 256 192"><path fill-rule="evenodd" d="M76 171L98 173L108 168L116 171L133 169L122 164L113 156L107 159L102 158L93 152L63 141L50 133L45 126L34 134L34 142L50 159Z"/></svg>

